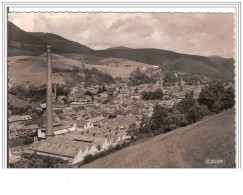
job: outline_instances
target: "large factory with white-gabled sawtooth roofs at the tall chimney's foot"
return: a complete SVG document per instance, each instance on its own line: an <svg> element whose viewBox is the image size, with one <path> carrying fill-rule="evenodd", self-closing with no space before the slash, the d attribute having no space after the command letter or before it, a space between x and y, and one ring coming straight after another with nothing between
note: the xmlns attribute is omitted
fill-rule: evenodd
<svg viewBox="0 0 243 195"><path fill-rule="evenodd" d="M41 129L38 136L43 139L35 141L29 149L75 164L83 161L88 154L94 155L129 142L131 137L127 131L131 126L139 125L137 120L131 116L113 119L98 116L73 125L54 124L54 137L45 139L45 129Z"/></svg>

